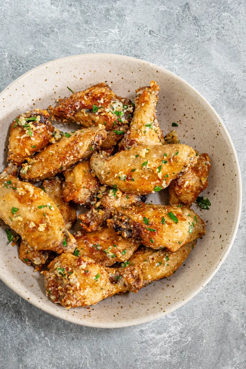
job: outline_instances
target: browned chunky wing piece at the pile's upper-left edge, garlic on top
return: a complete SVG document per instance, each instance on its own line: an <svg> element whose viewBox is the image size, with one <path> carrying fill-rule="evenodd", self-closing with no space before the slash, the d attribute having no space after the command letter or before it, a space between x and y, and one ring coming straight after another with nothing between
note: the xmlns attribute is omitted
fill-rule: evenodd
<svg viewBox="0 0 246 369"><path fill-rule="evenodd" d="M11 124L7 161L20 165L25 158L48 145L54 131L48 118L48 111L35 109L14 119Z"/></svg>

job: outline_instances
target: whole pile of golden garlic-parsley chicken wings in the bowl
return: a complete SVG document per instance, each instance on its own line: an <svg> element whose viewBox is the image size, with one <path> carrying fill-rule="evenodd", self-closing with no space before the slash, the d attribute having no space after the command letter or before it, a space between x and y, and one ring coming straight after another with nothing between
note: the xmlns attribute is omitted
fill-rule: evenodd
<svg viewBox="0 0 246 369"><path fill-rule="evenodd" d="M50 114L27 111L11 124L0 217L53 303L89 306L138 292L175 273L205 234L190 206L208 186L209 156L180 144L176 131L164 137L158 94L151 81L133 103L99 83L57 100ZM52 121L80 129L64 133ZM166 187L168 205L146 202ZM72 235L73 204L87 212Z"/></svg>

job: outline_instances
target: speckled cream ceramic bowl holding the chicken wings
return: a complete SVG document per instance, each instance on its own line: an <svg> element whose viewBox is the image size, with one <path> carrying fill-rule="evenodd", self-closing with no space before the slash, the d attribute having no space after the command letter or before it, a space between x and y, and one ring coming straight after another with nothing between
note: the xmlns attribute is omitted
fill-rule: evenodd
<svg viewBox="0 0 246 369"><path fill-rule="evenodd" d="M211 158L209 187L204 191L210 210L195 211L207 225L184 265L170 278L151 283L138 293L112 296L90 308L65 310L45 296L43 276L18 258L17 246L7 244L1 221L0 278L31 304L67 321L91 327L125 327L145 323L179 308L214 276L228 254L238 228L242 186L231 138L215 110L180 77L166 69L128 56L87 54L51 61L25 73L0 94L1 169L6 166L10 124L18 114L47 108L59 97L98 82L106 82L119 96L135 97L135 89L156 80L160 86L157 117L164 134L176 127L181 143ZM78 127L78 126L77 126ZM67 127L69 131L70 127ZM164 191L149 201L166 203Z"/></svg>

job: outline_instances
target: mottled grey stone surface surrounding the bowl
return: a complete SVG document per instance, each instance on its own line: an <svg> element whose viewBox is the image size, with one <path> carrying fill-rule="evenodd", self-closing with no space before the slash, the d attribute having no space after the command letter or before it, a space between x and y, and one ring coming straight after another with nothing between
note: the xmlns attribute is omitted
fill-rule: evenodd
<svg viewBox="0 0 246 369"><path fill-rule="evenodd" d="M245 17L244 0L4 0L0 90L67 55L107 52L161 65L197 88L224 120L245 189ZM0 368L245 369L245 221L243 207L232 250L202 292L136 327L73 325L0 282Z"/></svg>

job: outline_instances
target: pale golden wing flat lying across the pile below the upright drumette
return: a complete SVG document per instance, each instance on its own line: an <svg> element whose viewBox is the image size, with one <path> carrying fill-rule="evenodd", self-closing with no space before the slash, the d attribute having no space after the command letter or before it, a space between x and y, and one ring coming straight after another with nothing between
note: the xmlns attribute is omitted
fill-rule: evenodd
<svg viewBox="0 0 246 369"><path fill-rule="evenodd" d="M193 148L177 144L136 146L105 158L95 152L90 165L101 183L127 193L149 194L166 188L196 161Z"/></svg>

